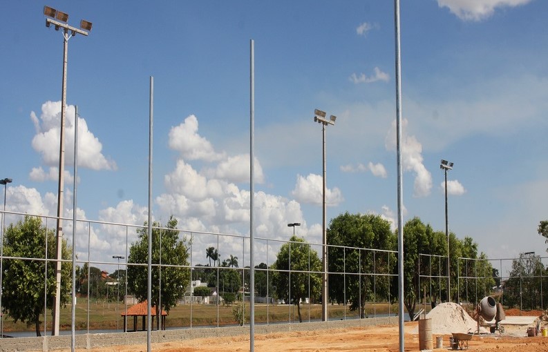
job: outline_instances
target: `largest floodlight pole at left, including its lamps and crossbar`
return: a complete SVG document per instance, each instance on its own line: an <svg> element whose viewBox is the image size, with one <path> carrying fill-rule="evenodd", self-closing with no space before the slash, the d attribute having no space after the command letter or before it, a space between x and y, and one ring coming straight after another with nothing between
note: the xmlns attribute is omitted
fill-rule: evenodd
<svg viewBox="0 0 548 352"><path fill-rule="evenodd" d="M46 17L46 27L54 26L55 30L62 28L63 32L63 83L61 94L61 131L59 133L59 187L57 188L57 251L55 253L55 306L53 306L53 322L52 322L52 335L59 335L59 309L61 305L61 249L63 239L63 194L64 194L64 170L65 170L65 146L64 146L64 130L65 130L65 115L66 115L66 66L68 62L68 39L75 36L77 33L80 35L88 35L88 31L91 30L91 22L82 19L80 21L80 28L68 26L68 14L44 6L44 15Z"/></svg>

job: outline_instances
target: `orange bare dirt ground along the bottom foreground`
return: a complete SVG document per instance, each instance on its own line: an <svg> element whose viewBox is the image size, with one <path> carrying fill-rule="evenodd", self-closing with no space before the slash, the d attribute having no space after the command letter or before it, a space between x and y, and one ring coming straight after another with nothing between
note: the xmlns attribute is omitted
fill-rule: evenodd
<svg viewBox="0 0 548 352"><path fill-rule="evenodd" d="M406 331L413 331L417 322L406 322ZM513 334L473 336L469 349L482 352L540 352L548 351L548 338L528 338L527 328L522 337ZM519 335L519 333L517 334ZM443 349L449 349L449 336L443 337ZM393 352L399 351L398 326L379 325L351 329L325 331L295 331L291 333L274 333L256 335L254 351L257 352L325 352L325 351L365 351ZM433 336L435 347L436 338ZM86 351L86 350L79 350ZM93 349L93 352L145 352L146 345L111 346L104 349ZM178 342L152 344L152 351L160 352L211 352L211 351L249 351L249 335L231 338L202 338ZM405 351L419 351L419 335L405 334Z"/></svg>

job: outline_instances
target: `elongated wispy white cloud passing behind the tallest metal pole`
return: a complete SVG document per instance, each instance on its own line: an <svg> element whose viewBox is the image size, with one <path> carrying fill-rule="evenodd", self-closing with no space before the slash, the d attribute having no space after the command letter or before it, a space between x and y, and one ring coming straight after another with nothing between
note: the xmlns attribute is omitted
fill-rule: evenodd
<svg viewBox="0 0 548 352"><path fill-rule="evenodd" d="M401 133L401 159L403 167L406 171L415 173L415 182L413 184L413 195L415 197L426 197L432 189L432 175L426 167L422 158L422 144L417 141L415 136L409 136L405 133L408 124L407 119L402 121ZM385 141L387 150L396 150L396 121L392 123L392 127L386 135Z"/></svg>

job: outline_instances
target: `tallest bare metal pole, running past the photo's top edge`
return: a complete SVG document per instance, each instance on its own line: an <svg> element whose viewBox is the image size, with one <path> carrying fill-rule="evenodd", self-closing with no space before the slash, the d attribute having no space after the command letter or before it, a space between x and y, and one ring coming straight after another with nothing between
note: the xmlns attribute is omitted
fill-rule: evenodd
<svg viewBox="0 0 548 352"><path fill-rule="evenodd" d="M398 333L399 352L404 352L404 169L401 160L401 58L399 35L399 0L394 0L396 59L396 150L397 150L397 253L398 253Z"/></svg>

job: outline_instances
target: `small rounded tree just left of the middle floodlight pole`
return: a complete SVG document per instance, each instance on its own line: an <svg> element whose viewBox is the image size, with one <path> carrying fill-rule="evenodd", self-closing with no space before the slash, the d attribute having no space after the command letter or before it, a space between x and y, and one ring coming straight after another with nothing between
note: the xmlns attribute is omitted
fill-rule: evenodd
<svg viewBox="0 0 548 352"><path fill-rule="evenodd" d="M312 300L321 291L321 260L304 238L297 236L292 236L289 243L283 244L276 257L272 265L276 293L297 306L299 322L303 322L301 300L305 297Z"/></svg>

